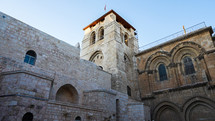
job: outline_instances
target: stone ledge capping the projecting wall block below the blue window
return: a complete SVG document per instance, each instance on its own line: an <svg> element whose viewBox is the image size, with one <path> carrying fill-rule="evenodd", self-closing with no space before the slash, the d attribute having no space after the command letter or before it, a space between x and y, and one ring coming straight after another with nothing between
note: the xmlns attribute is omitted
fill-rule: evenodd
<svg viewBox="0 0 215 121"><path fill-rule="evenodd" d="M6 71L6 72L1 72L0 75L12 75L12 74L18 74L18 73L29 74L29 75L36 76L36 77L46 79L46 80L49 80L49 81L54 80L51 77L48 77L48 76L45 76L45 75L42 75L42 74L38 74L38 73L35 73L35 72L31 72L31 71L26 71L26 70Z"/></svg>

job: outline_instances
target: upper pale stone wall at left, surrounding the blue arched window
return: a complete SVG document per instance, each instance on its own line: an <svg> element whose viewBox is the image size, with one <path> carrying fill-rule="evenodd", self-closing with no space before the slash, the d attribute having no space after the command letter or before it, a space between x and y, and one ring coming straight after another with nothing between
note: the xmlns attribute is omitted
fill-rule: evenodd
<svg viewBox="0 0 215 121"><path fill-rule="evenodd" d="M0 23L0 56L22 63L26 52L34 50L37 54L35 67L66 75L83 83L94 82L103 88L111 88L110 74L98 69L93 63L80 59L78 48L4 13L0 13Z"/></svg>

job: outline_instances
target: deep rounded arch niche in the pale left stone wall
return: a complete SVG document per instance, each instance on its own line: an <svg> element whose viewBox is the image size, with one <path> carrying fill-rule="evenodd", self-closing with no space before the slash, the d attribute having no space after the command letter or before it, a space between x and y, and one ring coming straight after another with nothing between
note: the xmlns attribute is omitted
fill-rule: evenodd
<svg viewBox="0 0 215 121"><path fill-rule="evenodd" d="M56 93L56 101L78 103L78 91L71 84L61 86Z"/></svg>

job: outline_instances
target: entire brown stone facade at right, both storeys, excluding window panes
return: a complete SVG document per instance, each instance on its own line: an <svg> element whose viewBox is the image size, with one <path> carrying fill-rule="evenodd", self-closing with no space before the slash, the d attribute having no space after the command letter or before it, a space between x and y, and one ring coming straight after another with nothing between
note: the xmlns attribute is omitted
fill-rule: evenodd
<svg viewBox="0 0 215 121"><path fill-rule="evenodd" d="M141 98L152 120L215 119L215 48L211 27L202 28L137 54ZM192 58L195 72L186 74L183 57ZM164 64L167 79L160 80Z"/></svg>

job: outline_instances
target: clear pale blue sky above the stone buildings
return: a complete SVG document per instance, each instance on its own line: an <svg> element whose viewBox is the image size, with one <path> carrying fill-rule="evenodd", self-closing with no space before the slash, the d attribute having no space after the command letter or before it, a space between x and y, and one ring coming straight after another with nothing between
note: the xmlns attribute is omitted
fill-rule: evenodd
<svg viewBox="0 0 215 121"><path fill-rule="evenodd" d="M111 9L137 29L140 46L183 25L204 21L215 27L215 0L0 0L1 12L72 45L81 43L85 26Z"/></svg>

